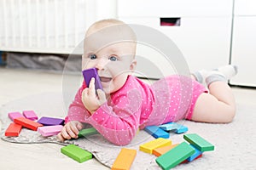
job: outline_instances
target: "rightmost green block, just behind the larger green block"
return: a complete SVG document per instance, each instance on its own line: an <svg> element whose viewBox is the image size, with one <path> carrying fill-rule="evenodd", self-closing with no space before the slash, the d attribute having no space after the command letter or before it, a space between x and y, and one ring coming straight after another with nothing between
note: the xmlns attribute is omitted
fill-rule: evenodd
<svg viewBox="0 0 256 170"><path fill-rule="evenodd" d="M197 150L211 151L214 150L214 145L209 143L206 139L201 138L198 134L189 133L184 134L183 139L187 140L190 144L193 144Z"/></svg>

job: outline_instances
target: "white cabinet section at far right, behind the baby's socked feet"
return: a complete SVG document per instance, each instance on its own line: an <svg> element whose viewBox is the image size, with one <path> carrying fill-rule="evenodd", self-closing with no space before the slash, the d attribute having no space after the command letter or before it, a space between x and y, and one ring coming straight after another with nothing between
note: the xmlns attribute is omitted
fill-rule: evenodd
<svg viewBox="0 0 256 170"><path fill-rule="evenodd" d="M256 87L256 1L236 0L232 36L231 64L239 72L230 84Z"/></svg>

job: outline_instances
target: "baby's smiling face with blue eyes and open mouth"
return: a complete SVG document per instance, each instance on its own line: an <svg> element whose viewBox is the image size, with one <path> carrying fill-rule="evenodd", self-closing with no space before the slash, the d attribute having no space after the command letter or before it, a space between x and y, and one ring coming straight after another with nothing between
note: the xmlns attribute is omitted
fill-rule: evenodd
<svg viewBox="0 0 256 170"><path fill-rule="evenodd" d="M134 54L135 42L115 42L100 49L97 43L85 42L83 70L96 67L104 92L111 94L123 87L135 69Z"/></svg>

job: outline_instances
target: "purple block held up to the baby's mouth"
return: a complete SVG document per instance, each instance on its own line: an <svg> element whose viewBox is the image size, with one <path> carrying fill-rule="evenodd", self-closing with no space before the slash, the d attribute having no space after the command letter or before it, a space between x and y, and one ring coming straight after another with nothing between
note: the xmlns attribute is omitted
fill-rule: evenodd
<svg viewBox="0 0 256 170"><path fill-rule="evenodd" d="M92 77L95 78L95 89L102 89L102 82L100 80L100 77L98 76L96 68L91 68L83 71L84 76L84 82L86 84L86 87L89 87L90 79Z"/></svg>

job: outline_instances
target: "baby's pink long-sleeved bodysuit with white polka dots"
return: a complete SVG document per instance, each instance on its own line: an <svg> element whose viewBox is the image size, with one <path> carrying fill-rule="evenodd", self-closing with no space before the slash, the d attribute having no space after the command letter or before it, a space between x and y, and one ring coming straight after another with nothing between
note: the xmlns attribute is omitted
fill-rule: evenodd
<svg viewBox="0 0 256 170"><path fill-rule="evenodd" d="M118 145L129 144L138 128L190 119L196 99L207 92L200 83L188 77L166 77L149 85L129 76L125 85L90 115L82 102L84 88L83 84L69 106L66 122L90 123L106 139Z"/></svg>

